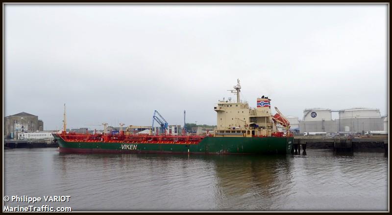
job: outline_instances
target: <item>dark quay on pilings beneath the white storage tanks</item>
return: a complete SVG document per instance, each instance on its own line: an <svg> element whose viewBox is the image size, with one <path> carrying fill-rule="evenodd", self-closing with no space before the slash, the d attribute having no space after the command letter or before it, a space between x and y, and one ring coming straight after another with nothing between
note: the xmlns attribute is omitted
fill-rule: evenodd
<svg viewBox="0 0 392 215"><path fill-rule="evenodd" d="M306 149L329 149L337 152L384 152L388 154L388 135L361 137L294 136L293 154L306 155Z"/></svg>

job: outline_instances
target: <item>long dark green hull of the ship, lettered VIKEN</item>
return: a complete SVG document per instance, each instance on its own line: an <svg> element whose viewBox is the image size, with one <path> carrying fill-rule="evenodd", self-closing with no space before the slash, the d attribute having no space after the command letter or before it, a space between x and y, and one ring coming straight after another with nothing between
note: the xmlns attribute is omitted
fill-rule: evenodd
<svg viewBox="0 0 392 215"><path fill-rule="evenodd" d="M294 137L205 137L198 144L66 142L57 134L60 152L288 154Z"/></svg>

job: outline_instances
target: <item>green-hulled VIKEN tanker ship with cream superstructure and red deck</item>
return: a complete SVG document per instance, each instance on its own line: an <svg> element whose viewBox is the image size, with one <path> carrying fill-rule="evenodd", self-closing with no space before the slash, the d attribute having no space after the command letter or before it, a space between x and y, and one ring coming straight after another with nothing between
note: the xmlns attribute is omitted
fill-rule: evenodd
<svg viewBox="0 0 392 215"><path fill-rule="evenodd" d="M256 99L256 108L240 100L241 85L231 89L237 101L219 100L217 128L205 135L167 133L130 134L122 129L119 133L66 132L66 111L61 133L53 133L59 151L67 153L182 153L182 154L288 154L294 137L290 123L271 104L267 96ZM276 128L280 124L286 132ZM152 127L151 127L152 128ZM105 130L105 129L104 129Z"/></svg>

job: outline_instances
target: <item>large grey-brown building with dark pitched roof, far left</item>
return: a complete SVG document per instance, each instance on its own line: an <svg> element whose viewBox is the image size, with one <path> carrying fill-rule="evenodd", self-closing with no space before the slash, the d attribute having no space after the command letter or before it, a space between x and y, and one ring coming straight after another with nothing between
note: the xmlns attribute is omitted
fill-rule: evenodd
<svg viewBox="0 0 392 215"><path fill-rule="evenodd" d="M44 130L44 122L38 116L21 112L4 117L4 138L17 139L19 133Z"/></svg>

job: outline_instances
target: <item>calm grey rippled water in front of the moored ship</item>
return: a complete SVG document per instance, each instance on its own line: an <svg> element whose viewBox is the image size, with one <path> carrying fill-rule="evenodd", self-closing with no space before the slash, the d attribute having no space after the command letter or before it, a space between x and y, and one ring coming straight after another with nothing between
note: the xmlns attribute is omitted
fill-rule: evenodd
<svg viewBox="0 0 392 215"><path fill-rule="evenodd" d="M71 195L73 211L387 211L388 158L4 151L5 195ZM47 203L38 203L36 206ZM21 202L5 205L27 206Z"/></svg>

